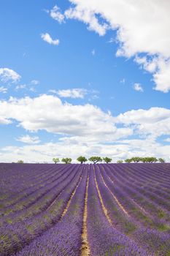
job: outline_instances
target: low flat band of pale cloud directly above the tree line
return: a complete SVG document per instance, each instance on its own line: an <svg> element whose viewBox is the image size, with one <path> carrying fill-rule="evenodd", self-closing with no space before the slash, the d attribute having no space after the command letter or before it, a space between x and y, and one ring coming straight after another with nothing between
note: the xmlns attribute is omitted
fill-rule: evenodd
<svg viewBox="0 0 170 256"><path fill-rule="evenodd" d="M101 157L112 157L113 161L134 156L163 157L169 161L170 146L163 146L155 140L120 140L118 144L90 143L79 140L61 140L57 143L44 143L26 146L6 146L0 148L0 161L9 162L23 159L24 162L52 162L53 157L60 159L72 157L74 162L78 156L90 157L93 154Z"/></svg>

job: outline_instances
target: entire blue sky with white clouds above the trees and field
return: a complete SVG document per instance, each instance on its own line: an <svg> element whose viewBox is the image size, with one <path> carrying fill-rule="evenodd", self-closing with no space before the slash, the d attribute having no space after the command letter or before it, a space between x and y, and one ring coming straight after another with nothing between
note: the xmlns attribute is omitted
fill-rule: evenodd
<svg viewBox="0 0 170 256"><path fill-rule="evenodd" d="M1 2L0 161L169 161L167 5Z"/></svg>

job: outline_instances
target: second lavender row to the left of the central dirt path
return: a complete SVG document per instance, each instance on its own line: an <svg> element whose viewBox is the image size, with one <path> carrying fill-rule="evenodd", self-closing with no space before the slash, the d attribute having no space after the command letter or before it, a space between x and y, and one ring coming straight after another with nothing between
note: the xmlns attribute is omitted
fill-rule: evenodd
<svg viewBox="0 0 170 256"><path fill-rule="evenodd" d="M77 170L79 167L75 167ZM41 233L45 232L48 228L52 227L61 218L64 208L69 201L69 198L80 181L82 168L80 168L77 175L70 180L66 189L61 192L58 198L53 202L50 208L46 211L37 214L36 217L31 219L20 219L13 225L6 224L1 227L1 241L0 241L0 255L10 255L12 252L17 252L26 244L29 244Z"/></svg>

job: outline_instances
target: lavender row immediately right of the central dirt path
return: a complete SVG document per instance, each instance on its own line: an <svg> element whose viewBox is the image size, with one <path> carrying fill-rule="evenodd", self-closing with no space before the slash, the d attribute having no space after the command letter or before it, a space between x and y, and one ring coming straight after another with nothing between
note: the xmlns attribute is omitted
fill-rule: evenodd
<svg viewBox="0 0 170 256"><path fill-rule="evenodd" d="M110 225L98 197L93 165L90 165L88 187L88 241L92 256L148 256L144 249L140 249L131 239Z"/></svg>

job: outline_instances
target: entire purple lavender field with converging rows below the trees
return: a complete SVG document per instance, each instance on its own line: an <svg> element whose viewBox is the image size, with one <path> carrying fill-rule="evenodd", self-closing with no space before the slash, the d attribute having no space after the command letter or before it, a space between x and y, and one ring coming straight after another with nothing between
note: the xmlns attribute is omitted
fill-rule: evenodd
<svg viewBox="0 0 170 256"><path fill-rule="evenodd" d="M0 164L0 255L170 255L170 164Z"/></svg>

